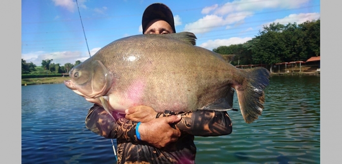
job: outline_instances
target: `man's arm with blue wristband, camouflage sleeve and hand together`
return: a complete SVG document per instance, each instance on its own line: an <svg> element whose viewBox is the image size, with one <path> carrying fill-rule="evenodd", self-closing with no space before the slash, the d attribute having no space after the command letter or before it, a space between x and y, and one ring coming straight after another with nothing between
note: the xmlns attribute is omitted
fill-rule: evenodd
<svg viewBox="0 0 342 164"><path fill-rule="evenodd" d="M117 121L103 107L94 104L88 111L85 120L86 127L90 131L106 138L124 138L128 142L138 141L138 138L136 138L136 125L138 121L130 121L125 118L119 118L120 116L113 116L117 118ZM148 142L158 148L177 141L181 133L179 130L170 127L169 124L177 123L180 120L180 117L173 116L142 122L138 129L141 141ZM163 133L159 134L159 132Z"/></svg>

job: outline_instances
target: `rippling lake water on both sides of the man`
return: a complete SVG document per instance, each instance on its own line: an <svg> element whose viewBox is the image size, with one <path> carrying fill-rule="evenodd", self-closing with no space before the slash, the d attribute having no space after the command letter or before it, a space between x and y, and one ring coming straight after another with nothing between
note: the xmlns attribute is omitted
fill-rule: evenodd
<svg viewBox="0 0 342 164"><path fill-rule="evenodd" d="M111 139L85 128L91 103L64 84L21 92L22 163L116 163ZM196 163L320 163L320 77L271 77L264 107L251 124L228 112L230 135L195 137Z"/></svg>

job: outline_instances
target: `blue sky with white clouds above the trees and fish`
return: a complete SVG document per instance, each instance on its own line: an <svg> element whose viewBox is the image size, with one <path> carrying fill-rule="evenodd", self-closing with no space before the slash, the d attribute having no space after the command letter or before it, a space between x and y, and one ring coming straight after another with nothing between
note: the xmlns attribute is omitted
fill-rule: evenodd
<svg viewBox="0 0 342 164"><path fill-rule="evenodd" d="M147 6L164 3L175 16L176 31L197 36L197 46L212 50L244 43L272 22L300 24L320 18L318 0L107 1L78 0L91 56L110 42L142 34ZM75 0L21 1L21 58L74 64L89 58Z"/></svg>

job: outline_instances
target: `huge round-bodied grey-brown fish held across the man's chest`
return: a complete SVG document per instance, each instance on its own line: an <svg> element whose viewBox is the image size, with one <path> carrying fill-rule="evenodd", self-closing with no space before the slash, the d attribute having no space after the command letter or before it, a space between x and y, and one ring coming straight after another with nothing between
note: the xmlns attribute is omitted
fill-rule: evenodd
<svg viewBox="0 0 342 164"><path fill-rule="evenodd" d="M268 70L235 68L220 54L196 46L195 39L181 32L115 40L74 67L64 84L85 98L99 98L110 114L138 105L158 113L227 111L235 90L245 122L258 119Z"/></svg>

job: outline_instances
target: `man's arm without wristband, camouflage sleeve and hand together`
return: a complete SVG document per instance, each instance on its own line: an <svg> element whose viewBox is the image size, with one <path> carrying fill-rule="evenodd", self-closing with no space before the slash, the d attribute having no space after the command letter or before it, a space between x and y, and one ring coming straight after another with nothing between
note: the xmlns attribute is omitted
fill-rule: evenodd
<svg viewBox="0 0 342 164"><path fill-rule="evenodd" d="M227 112L211 110L197 110L186 113L174 113L165 111L157 114L151 107L135 106L126 110L126 119L132 121L149 121L154 118L168 116L181 116L182 120L175 125L181 132L195 136L220 136L228 135L232 132L232 123Z"/></svg>

